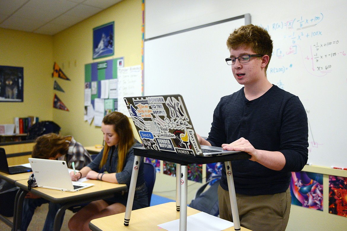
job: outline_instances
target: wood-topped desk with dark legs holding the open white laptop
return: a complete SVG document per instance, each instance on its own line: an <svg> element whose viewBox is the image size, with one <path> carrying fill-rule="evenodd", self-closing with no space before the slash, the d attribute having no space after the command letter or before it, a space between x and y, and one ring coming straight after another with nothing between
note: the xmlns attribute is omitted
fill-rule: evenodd
<svg viewBox="0 0 347 231"><path fill-rule="evenodd" d="M15 185L20 189L18 190L18 198L16 199L17 203L15 204L16 213L14 214L13 230L20 229L22 225L23 201L25 195L28 193L27 181L28 179L18 180L15 182ZM85 182L93 183L95 185L77 192L66 192L38 187L31 189L31 193L35 195L53 203L63 204L63 206L57 211L54 219L53 230L60 230L60 219L67 208L78 204L89 203L94 200L110 198L114 196L114 193L127 189L125 184L109 183L100 180L87 180Z"/></svg>

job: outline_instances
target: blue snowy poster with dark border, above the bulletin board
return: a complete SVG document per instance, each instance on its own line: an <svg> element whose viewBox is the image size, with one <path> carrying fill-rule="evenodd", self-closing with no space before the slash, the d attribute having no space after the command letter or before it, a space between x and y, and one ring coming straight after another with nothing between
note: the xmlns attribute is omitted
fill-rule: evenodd
<svg viewBox="0 0 347 231"><path fill-rule="evenodd" d="M111 56L115 53L114 23L93 28L93 59Z"/></svg>

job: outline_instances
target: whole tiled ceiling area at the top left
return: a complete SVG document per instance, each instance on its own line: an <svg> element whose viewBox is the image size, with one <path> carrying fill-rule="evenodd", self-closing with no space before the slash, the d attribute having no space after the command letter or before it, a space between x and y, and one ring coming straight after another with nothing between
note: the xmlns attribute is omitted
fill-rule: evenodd
<svg viewBox="0 0 347 231"><path fill-rule="evenodd" d="M0 0L0 27L53 35L120 1Z"/></svg>

